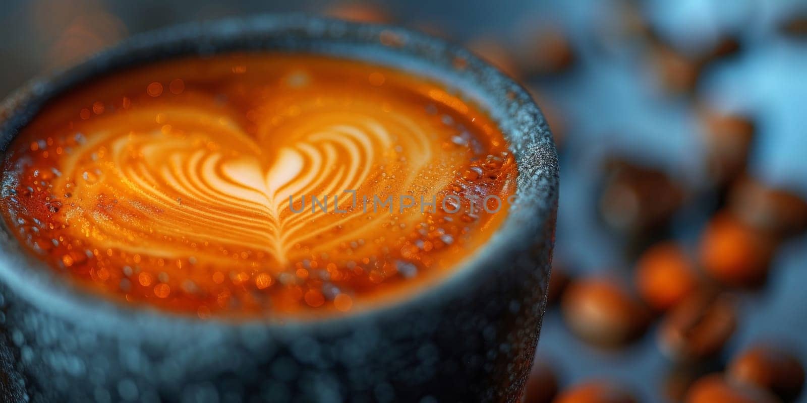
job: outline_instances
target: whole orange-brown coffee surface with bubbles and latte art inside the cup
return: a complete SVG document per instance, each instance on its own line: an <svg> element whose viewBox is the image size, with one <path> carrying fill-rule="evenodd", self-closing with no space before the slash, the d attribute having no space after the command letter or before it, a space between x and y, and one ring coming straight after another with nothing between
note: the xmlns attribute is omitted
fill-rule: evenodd
<svg viewBox="0 0 807 403"><path fill-rule="evenodd" d="M445 278L500 226L515 179L495 123L432 81L233 54L147 64L50 102L6 152L2 213L32 254L112 300L305 317Z"/></svg>

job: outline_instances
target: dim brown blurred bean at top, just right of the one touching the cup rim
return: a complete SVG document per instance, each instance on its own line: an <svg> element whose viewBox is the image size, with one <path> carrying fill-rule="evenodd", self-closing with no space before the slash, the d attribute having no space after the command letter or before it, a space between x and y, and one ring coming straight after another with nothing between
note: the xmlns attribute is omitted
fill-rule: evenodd
<svg viewBox="0 0 807 403"><path fill-rule="evenodd" d="M528 34L532 40L520 49L521 71L528 75L561 73L575 63L575 50L566 33L558 27L544 25Z"/></svg>

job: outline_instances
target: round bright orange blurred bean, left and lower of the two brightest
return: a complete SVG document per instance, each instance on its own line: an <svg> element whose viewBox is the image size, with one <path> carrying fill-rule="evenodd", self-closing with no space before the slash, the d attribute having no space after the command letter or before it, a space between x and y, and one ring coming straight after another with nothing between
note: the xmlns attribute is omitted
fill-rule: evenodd
<svg viewBox="0 0 807 403"><path fill-rule="evenodd" d="M698 285L692 260L676 243L650 247L636 265L635 282L639 296L654 310L677 305Z"/></svg>

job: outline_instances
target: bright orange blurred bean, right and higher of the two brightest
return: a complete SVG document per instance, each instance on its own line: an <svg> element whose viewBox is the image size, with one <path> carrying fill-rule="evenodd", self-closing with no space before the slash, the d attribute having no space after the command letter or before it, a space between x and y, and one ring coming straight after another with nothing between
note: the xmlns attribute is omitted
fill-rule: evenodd
<svg viewBox="0 0 807 403"><path fill-rule="evenodd" d="M700 264L714 279L737 287L763 285L775 239L756 231L734 214L721 212L700 236Z"/></svg>

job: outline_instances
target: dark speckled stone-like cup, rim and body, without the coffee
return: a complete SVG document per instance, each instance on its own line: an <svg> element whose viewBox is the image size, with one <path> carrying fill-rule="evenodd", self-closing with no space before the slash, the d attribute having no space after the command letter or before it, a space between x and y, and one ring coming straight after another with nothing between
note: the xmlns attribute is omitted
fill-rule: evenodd
<svg viewBox="0 0 807 403"><path fill-rule="evenodd" d="M303 15L135 36L0 106L2 150L65 90L134 64L228 51L316 52L441 81L500 124L518 208L448 279L395 305L317 321L200 321L78 292L0 231L6 401L516 401L545 308L558 160L529 95L470 52L398 27Z"/></svg>

